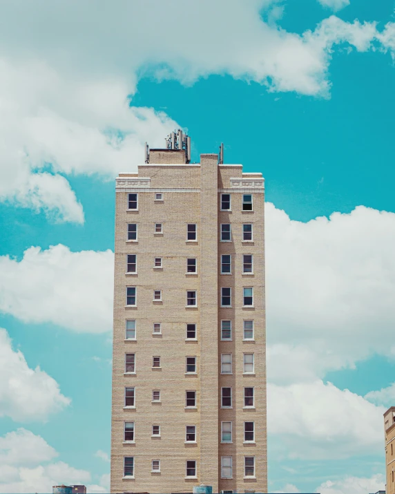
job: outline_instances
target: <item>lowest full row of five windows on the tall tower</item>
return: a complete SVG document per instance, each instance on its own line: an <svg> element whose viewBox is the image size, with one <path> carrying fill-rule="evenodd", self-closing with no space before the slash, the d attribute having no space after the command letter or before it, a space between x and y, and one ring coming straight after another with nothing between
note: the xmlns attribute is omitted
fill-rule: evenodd
<svg viewBox="0 0 395 494"><path fill-rule="evenodd" d="M187 459L185 465L185 476L186 478L196 478L196 460ZM151 472L160 473L160 459L153 459L151 462ZM124 457L124 478L134 478L135 477L135 458L132 456ZM231 479L233 477L232 468L232 457L222 456L221 457L221 477L224 479ZM255 478L255 457L254 456L244 456L244 477L245 478ZM222 491L224 493L232 493L233 491ZM255 491L246 491L255 492Z"/></svg>

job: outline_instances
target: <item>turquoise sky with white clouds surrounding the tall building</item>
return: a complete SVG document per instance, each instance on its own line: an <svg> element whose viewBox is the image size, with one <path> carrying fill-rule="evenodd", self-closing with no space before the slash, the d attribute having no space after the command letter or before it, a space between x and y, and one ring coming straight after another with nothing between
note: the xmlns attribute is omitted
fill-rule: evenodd
<svg viewBox="0 0 395 494"><path fill-rule="evenodd" d="M1 4L0 493L108 492L113 179L178 126L266 180L269 491L376 492L395 3L167 4Z"/></svg>

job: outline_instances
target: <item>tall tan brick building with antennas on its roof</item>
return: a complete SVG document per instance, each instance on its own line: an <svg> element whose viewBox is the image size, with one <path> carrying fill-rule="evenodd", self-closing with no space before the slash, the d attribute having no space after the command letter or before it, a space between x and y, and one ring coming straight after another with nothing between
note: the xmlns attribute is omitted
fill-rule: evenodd
<svg viewBox="0 0 395 494"><path fill-rule="evenodd" d="M264 179L222 156L116 180L111 493L267 492Z"/></svg>

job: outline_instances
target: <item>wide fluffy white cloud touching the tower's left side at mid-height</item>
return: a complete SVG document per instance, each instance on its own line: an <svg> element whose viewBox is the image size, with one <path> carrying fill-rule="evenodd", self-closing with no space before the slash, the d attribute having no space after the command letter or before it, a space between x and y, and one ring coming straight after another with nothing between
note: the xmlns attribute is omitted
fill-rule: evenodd
<svg viewBox="0 0 395 494"><path fill-rule="evenodd" d="M0 256L0 311L25 322L87 333L112 327L113 252L71 252L64 245Z"/></svg>

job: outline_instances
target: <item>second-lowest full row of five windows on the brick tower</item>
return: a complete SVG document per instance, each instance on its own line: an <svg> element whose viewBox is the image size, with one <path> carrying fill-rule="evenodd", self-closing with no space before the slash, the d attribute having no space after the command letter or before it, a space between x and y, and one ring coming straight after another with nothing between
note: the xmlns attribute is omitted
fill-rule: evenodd
<svg viewBox="0 0 395 494"><path fill-rule="evenodd" d="M152 426L151 437L160 437L160 426ZM185 426L185 444L196 443L196 426ZM221 422L221 443L233 443L233 422ZM255 422L244 422L244 443L255 444ZM124 422L124 443L135 443L135 422Z"/></svg>

